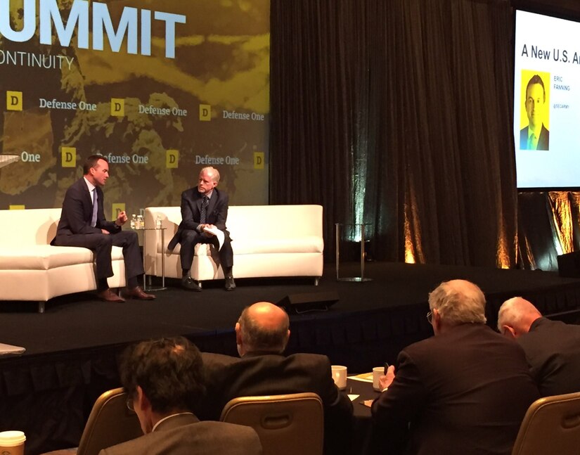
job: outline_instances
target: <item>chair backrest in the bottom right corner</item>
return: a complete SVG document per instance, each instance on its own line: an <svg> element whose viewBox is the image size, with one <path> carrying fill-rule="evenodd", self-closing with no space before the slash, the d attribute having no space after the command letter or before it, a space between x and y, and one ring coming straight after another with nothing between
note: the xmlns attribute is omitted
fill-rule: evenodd
<svg viewBox="0 0 580 455"><path fill-rule="evenodd" d="M527 410L512 455L580 453L580 392L536 399Z"/></svg>

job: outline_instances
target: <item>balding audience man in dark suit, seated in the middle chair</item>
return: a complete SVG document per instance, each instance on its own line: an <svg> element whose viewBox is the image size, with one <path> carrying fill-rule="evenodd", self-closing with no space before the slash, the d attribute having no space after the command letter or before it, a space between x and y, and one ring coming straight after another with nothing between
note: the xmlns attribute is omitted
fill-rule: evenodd
<svg viewBox="0 0 580 455"><path fill-rule="evenodd" d="M217 420L224 405L236 397L314 392L324 407L325 453L349 453L352 403L336 387L328 357L283 355L289 324L288 314L269 302L244 309L236 323L240 358L202 354L207 399L200 417Z"/></svg>

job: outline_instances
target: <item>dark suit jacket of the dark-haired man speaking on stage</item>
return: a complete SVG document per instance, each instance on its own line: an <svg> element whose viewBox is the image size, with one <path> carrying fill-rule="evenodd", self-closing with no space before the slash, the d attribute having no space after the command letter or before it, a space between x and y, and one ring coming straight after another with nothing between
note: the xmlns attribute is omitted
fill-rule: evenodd
<svg viewBox="0 0 580 455"><path fill-rule="evenodd" d="M86 181L81 178L75 181L74 184L67 189L65 200L63 201L63 210L60 212L60 221L56 229L57 236L70 236L72 234L89 234L101 233L101 229L109 231L110 233L117 233L121 231L121 227L117 226L115 222L108 222L105 219L105 212L103 211L103 190L96 187L97 191L97 222L96 226L91 226L91 218L93 217L93 203L91 200L91 193L89 187L86 186Z"/></svg>

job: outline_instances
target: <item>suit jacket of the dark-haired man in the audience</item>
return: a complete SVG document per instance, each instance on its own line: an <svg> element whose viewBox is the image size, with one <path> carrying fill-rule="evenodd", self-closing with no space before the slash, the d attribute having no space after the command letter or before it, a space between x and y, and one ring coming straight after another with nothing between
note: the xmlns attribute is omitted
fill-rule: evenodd
<svg viewBox="0 0 580 455"><path fill-rule="evenodd" d="M99 455L260 455L262 444L250 427L200 422L191 414L174 416L154 432L103 449Z"/></svg>

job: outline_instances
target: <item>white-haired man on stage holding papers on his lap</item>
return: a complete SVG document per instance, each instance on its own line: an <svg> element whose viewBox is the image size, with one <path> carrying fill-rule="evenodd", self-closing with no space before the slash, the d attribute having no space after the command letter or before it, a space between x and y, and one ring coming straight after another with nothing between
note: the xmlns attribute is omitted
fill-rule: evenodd
<svg viewBox="0 0 580 455"><path fill-rule="evenodd" d="M218 170L204 167L200 172L198 186L181 193L181 223L167 248L173 250L177 243L181 243L181 286L186 289L201 290L201 283L191 278L190 274L193 249L198 243L211 243L219 250L219 262L226 278L225 288L236 288L232 274L233 250L230 234L226 229L228 195L216 188L218 183ZM217 236L211 232L212 229L219 229L224 233L224 244L221 248Z"/></svg>

